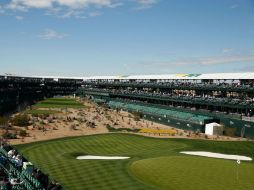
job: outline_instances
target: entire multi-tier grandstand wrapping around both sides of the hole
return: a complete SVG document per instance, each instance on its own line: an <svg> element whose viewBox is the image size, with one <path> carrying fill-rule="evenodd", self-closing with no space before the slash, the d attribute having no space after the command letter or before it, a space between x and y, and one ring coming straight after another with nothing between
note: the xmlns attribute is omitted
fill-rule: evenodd
<svg viewBox="0 0 254 190"><path fill-rule="evenodd" d="M0 76L0 113L55 95L99 104L187 130L220 122L237 136L254 137L254 73L95 77Z"/></svg>

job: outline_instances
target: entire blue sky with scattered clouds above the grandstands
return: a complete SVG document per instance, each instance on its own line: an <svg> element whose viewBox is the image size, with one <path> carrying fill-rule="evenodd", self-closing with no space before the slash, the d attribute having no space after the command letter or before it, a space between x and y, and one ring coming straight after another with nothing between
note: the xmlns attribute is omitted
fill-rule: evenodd
<svg viewBox="0 0 254 190"><path fill-rule="evenodd" d="M254 72L254 0L0 0L0 73Z"/></svg>

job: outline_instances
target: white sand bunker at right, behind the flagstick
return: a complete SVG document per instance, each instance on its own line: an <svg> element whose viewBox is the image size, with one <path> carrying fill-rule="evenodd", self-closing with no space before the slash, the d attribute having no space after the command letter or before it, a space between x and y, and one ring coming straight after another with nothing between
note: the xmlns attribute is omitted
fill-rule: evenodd
<svg viewBox="0 0 254 190"><path fill-rule="evenodd" d="M243 160L243 161L251 161L252 160L252 158L247 157L247 156L220 154L220 153L203 152L203 151L184 151L184 152L180 152L180 153L194 155L194 156L204 156L204 157L209 157L209 158L228 159L228 160Z"/></svg>

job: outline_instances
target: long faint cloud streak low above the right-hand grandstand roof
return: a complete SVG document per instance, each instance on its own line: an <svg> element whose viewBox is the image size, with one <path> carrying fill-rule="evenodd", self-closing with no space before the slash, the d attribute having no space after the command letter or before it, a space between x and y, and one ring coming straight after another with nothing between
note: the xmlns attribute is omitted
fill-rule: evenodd
<svg viewBox="0 0 254 190"><path fill-rule="evenodd" d="M232 55L232 56L213 56L213 57L186 57L177 58L166 62L145 63L146 66L185 66L185 65L220 65L240 62L252 62L254 55Z"/></svg>

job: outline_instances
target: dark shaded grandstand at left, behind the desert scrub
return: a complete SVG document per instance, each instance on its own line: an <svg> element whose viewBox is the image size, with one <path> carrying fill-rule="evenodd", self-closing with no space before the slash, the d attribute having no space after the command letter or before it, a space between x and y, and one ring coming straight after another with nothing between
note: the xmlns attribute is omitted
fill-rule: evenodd
<svg viewBox="0 0 254 190"><path fill-rule="evenodd" d="M0 114L25 107L35 101L55 95L73 94L82 78L0 76Z"/></svg>

